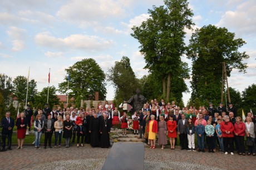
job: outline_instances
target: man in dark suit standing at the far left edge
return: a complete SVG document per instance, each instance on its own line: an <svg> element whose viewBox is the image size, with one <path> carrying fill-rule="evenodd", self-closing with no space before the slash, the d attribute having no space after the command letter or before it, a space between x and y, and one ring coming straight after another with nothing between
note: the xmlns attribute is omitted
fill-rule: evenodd
<svg viewBox="0 0 256 170"><path fill-rule="evenodd" d="M2 125L2 140L3 140L3 148L1 152L6 151L6 137L8 139L8 150L12 150L11 145L12 145L12 129L14 127L14 120L12 117L10 117L11 113L6 112L6 117L3 117L1 121Z"/></svg>

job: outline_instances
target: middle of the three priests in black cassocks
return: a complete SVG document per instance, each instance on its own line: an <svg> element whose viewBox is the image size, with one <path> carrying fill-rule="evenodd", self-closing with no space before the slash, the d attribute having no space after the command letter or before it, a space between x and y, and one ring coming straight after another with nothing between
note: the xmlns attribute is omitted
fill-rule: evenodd
<svg viewBox="0 0 256 170"><path fill-rule="evenodd" d="M91 133L91 146L99 146L100 120L97 118L97 114L93 114L91 118L89 132Z"/></svg>

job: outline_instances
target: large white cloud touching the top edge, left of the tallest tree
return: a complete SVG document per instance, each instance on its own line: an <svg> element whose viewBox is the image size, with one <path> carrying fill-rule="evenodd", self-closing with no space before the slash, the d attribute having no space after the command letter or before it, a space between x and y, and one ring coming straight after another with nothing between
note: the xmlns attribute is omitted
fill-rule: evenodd
<svg viewBox="0 0 256 170"><path fill-rule="evenodd" d="M78 23L81 27L87 27L105 19L124 17L126 13L123 4L119 1L72 0L61 6L56 15L68 22Z"/></svg>

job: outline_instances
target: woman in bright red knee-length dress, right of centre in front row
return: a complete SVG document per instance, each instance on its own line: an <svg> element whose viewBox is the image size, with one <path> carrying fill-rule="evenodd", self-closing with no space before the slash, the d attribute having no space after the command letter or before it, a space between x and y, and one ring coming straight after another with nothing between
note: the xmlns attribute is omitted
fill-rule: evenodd
<svg viewBox="0 0 256 170"><path fill-rule="evenodd" d="M170 138L171 150L174 150L175 138L177 137L176 127L177 127L177 123L176 121L173 121L173 115L170 115L169 121L167 121L167 130L168 130L168 137Z"/></svg>

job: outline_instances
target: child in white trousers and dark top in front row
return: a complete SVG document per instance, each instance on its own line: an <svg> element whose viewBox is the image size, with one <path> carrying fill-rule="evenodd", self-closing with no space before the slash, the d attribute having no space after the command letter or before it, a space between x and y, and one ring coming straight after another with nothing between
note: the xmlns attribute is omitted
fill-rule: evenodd
<svg viewBox="0 0 256 170"><path fill-rule="evenodd" d="M188 119L186 124L186 132L188 133L189 149L188 151L195 151L195 126L192 119Z"/></svg>

